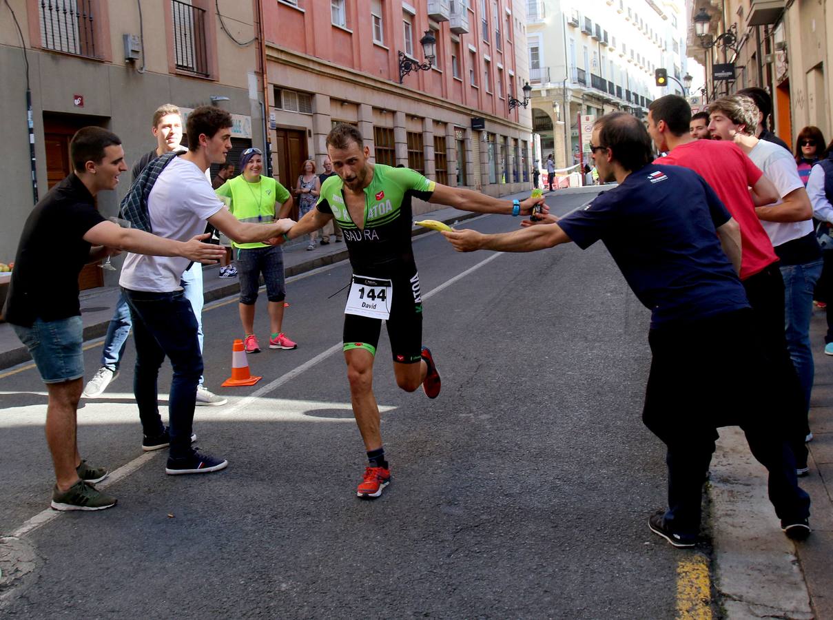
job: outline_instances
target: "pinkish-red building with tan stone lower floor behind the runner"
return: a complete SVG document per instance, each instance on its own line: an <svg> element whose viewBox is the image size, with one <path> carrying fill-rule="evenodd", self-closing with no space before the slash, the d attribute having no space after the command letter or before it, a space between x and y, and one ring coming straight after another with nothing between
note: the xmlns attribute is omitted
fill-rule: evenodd
<svg viewBox="0 0 833 620"><path fill-rule="evenodd" d="M373 162L499 196L530 187L521 0L277 0L264 4L274 175L318 170L337 122ZM426 66L421 39L436 39ZM519 51L520 50L520 51ZM422 70L401 76L402 57ZM518 57L521 56L521 62ZM415 203L420 213L425 205Z"/></svg>

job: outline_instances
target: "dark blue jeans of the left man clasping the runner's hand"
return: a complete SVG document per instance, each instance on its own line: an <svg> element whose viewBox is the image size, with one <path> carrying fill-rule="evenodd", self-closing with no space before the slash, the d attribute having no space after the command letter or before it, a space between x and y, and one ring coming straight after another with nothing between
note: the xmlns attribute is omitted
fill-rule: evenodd
<svg viewBox="0 0 833 620"><path fill-rule="evenodd" d="M173 380L168 399L171 456L192 453L191 433L197 383L202 375L202 352L197 339L197 317L182 291L148 293L122 289L133 319L136 372L133 393L142 421L142 432L155 437L164 431L159 416L157 378L167 357Z"/></svg>

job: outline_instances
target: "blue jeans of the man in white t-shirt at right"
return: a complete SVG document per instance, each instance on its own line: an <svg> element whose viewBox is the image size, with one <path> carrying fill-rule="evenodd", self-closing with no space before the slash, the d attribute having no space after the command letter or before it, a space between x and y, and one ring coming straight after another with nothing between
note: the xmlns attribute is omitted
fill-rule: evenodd
<svg viewBox="0 0 833 620"><path fill-rule="evenodd" d="M801 265L781 267L784 278L786 346L804 391L805 411L810 409L813 389L813 352L810 347L810 318L813 313L813 290L821 276L821 258Z"/></svg>

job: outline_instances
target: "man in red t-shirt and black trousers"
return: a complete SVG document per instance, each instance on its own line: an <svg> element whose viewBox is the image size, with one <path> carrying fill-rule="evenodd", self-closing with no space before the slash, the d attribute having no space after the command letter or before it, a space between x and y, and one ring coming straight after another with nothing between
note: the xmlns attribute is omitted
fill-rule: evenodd
<svg viewBox="0 0 833 620"><path fill-rule="evenodd" d="M786 346L784 279L769 235L755 210L775 203L781 195L735 143L691 138L690 122L691 107L683 97L666 95L651 102L648 133L657 149L668 152L655 163L684 166L700 174L741 225L741 281L755 310L762 343L785 381L785 431L791 437L796 461L801 463L806 459L805 435L793 425L799 424L797 420L806 407L804 391Z"/></svg>

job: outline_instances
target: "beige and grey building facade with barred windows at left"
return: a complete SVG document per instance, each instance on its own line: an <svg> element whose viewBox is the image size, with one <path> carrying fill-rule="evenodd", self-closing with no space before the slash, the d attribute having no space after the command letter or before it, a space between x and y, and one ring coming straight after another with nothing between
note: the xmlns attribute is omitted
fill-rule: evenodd
<svg viewBox="0 0 833 620"><path fill-rule="evenodd" d="M155 146L150 130L158 106L171 102L187 114L213 102L234 114L237 149L263 146L256 3L10 0L9 5L11 10L0 4L0 105L7 148L0 262L13 260L35 192L43 198L70 172L68 145L78 128L98 125L117 133L129 167ZM102 213L116 215L130 180L128 170L116 192L99 195ZM102 272L95 265L85 268L82 287L116 282L117 272Z"/></svg>

